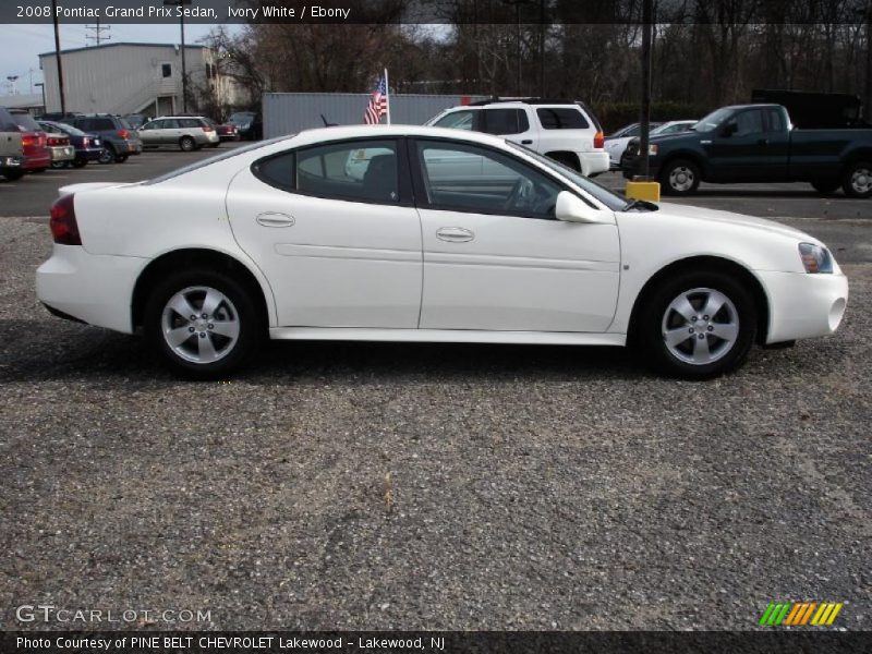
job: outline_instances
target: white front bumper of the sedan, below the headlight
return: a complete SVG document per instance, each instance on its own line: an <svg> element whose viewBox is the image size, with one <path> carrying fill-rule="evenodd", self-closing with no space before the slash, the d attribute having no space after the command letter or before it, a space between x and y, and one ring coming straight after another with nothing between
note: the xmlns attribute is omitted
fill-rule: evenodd
<svg viewBox="0 0 872 654"><path fill-rule="evenodd" d="M766 343L828 336L838 328L848 303L848 278L841 272L756 275L770 302Z"/></svg>

